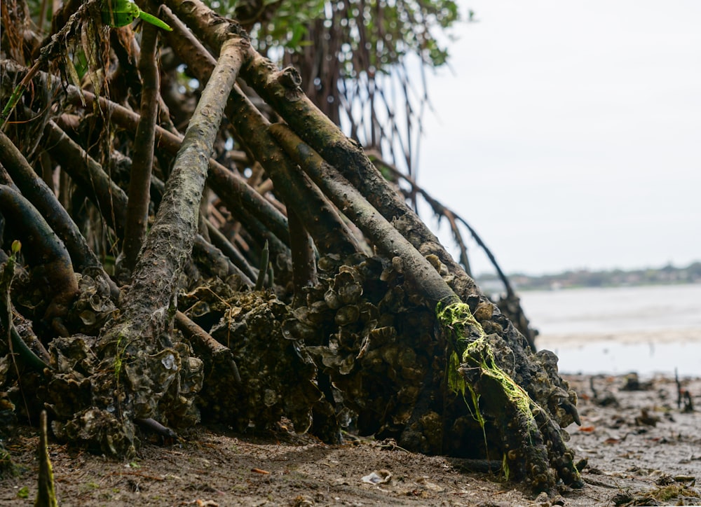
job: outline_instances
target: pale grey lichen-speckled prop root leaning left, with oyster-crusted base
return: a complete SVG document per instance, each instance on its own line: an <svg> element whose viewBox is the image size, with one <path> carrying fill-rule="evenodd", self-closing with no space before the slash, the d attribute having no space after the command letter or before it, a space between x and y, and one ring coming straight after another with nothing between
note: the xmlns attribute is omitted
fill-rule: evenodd
<svg viewBox="0 0 701 507"><path fill-rule="evenodd" d="M93 403L112 434L107 440L105 433L96 437L104 440L103 449L117 454L134 448L133 425L124 424L126 420L158 416L167 421L168 412L191 417L193 396L201 387L202 361L189 357L183 344L173 345L169 331L177 310L179 274L198 230L212 146L240 67L240 42L232 38L222 48L175 159L132 284L123 292L122 313L100 335L101 373L93 375ZM187 377L197 380L184 389ZM175 394L169 392L171 385ZM74 422L81 426L81 421Z"/></svg>

